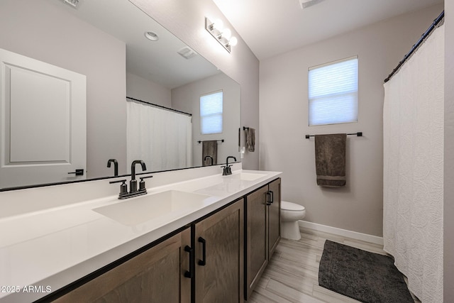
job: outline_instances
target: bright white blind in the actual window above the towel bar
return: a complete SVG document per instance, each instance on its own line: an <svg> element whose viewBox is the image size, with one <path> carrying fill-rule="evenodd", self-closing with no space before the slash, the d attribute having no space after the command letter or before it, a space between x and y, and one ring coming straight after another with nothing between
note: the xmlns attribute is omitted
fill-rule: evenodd
<svg viewBox="0 0 454 303"><path fill-rule="evenodd" d="M358 57L309 68L309 126L358 122Z"/></svg>

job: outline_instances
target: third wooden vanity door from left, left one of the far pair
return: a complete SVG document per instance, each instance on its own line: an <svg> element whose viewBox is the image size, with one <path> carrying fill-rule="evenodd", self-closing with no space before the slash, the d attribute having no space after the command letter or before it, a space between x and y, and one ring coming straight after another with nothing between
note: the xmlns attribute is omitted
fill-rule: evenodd
<svg viewBox="0 0 454 303"><path fill-rule="evenodd" d="M252 294L267 259L267 192L260 187L246 196L246 296Z"/></svg>

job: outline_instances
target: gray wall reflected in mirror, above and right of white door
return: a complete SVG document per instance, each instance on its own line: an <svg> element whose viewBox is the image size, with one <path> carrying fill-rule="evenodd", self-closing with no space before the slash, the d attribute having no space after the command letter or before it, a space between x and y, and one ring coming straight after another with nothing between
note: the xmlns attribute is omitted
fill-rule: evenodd
<svg viewBox="0 0 454 303"><path fill-rule="evenodd" d="M87 177L111 175L107 160L126 159L126 45L62 6L1 0L0 48L87 76Z"/></svg>

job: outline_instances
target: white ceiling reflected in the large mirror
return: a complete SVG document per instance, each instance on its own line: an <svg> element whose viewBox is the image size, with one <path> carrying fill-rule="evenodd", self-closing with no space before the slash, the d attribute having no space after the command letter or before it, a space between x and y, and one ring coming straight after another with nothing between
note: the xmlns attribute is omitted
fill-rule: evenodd
<svg viewBox="0 0 454 303"><path fill-rule="evenodd" d="M79 0L77 9L63 1L43 1L126 43L126 72L143 79L173 89L220 73L200 55L184 59L177 52L187 45L130 1ZM145 31L155 32L159 40L145 39Z"/></svg>

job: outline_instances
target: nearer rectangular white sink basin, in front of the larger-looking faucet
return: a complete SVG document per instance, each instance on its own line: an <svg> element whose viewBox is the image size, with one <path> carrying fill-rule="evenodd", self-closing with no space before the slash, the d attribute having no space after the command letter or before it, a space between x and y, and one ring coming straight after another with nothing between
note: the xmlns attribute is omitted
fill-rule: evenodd
<svg viewBox="0 0 454 303"><path fill-rule="evenodd" d="M189 211L194 207L203 206L209 197L206 194L168 190L122 200L122 202L102 206L93 211L121 224L135 226L160 216L180 214L180 211L185 209Z"/></svg>

